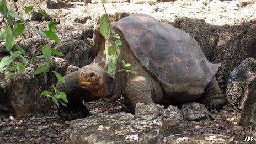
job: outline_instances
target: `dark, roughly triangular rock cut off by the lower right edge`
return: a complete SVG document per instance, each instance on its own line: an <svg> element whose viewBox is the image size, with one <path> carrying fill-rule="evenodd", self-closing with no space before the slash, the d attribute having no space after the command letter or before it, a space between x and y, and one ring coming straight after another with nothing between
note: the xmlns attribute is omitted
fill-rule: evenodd
<svg viewBox="0 0 256 144"><path fill-rule="evenodd" d="M244 102L244 108L241 113L241 118L239 121L239 125L256 126L256 82L252 84L252 88L250 88L248 96Z"/></svg>

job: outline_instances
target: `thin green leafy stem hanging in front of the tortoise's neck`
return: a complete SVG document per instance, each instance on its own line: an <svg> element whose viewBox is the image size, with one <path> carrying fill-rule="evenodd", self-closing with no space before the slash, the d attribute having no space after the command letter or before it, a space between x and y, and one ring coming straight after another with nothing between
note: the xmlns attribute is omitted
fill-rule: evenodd
<svg viewBox="0 0 256 144"><path fill-rule="evenodd" d="M104 38L106 40L112 39L114 40L114 44L110 45L108 47L108 55L110 56L109 58L109 63L108 63L108 71L107 73L110 75L113 72L117 71L116 70L116 65L118 63L118 57L120 55L120 48L119 46L122 45L122 41L121 38L119 36L118 33L116 33L113 29L112 26L110 24L109 21L109 17L108 17L108 13L106 13L106 9L104 6L104 3L106 3L106 0L102 0L102 6L105 10L105 14L102 15L102 17L100 18L100 34L102 34L102 36L104 36ZM118 70L118 71L126 71L128 74L138 74L135 71L129 70L129 67L131 66L130 63L125 63L124 60L121 60L122 66L124 67L124 69Z"/></svg>

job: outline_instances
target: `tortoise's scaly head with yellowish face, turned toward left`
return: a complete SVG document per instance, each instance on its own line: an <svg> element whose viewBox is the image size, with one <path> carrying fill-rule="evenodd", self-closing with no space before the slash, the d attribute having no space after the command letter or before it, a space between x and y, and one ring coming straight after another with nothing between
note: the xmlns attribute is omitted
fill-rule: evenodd
<svg viewBox="0 0 256 144"><path fill-rule="evenodd" d="M79 86L92 92L99 98L106 98L111 94L111 78L102 67L91 64L81 68L78 73Z"/></svg>

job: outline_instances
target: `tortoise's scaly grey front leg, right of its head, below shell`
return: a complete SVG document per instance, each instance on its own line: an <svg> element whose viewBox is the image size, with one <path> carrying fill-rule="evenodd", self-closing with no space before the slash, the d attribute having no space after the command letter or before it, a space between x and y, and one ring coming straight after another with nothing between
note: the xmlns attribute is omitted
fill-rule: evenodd
<svg viewBox="0 0 256 144"><path fill-rule="evenodd" d="M131 111L135 113L135 106L140 103L153 103L151 98L151 88L147 79L143 76L136 76L128 82L124 89L125 105Z"/></svg>

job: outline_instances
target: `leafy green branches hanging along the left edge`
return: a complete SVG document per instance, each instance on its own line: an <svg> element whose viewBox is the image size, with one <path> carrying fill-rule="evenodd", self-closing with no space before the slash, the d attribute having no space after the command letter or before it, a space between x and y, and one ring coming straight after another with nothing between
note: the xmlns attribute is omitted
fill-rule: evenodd
<svg viewBox="0 0 256 144"><path fill-rule="evenodd" d="M48 17L46 11L41 9L38 2L36 2L35 0L34 2L39 7L39 10L37 12L42 16L42 18ZM24 10L25 10L25 13L29 13L31 12L31 10L33 10L33 6L28 6ZM20 36L25 29L29 30L31 28L35 30L36 33L38 33L42 39L48 38L48 39L54 40L57 44L60 43L60 39L55 33L56 25L54 22L52 22L52 20L48 24L49 30L39 30L36 28L32 28L28 22L26 22L22 17L20 17L20 15L13 12L12 10L8 10L5 0L2 0L0 2L0 13L4 17L4 23L5 23L5 25L2 27L0 32L0 40L3 40L6 42L5 44L6 50L9 51L10 53L9 56L3 57L2 60L0 61L1 73L4 73L5 71L9 71L9 72L18 71L20 73L23 73L25 71L25 67L29 65L28 60L26 60L25 58L25 51L22 49L22 47L19 47L17 44L15 44L15 38ZM50 47L49 45L42 46L41 58L44 58L47 63L36 68L34 75L38 75L50 69L50 71L55 74L58 81L65 84L65 79L61 76L61 74L51 70L52 54L55 54L57 56L64 56L62 52L57 51L56 49ZM37 61L34 61L34 62L37 62ZM9 74L9 75L13 76L12 74ZM63 103L63 102L68 103L66 94L56 89L54 87L54 84L52 84L52 92L45 90L44 92L41 93L41 97L44 97L44 96L51 97L52 102L54 102L57 106L60 105L59 102L63 106L67 106L65 103Z"/></svg>

